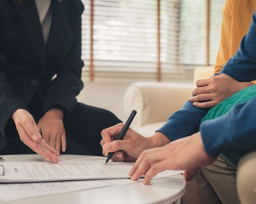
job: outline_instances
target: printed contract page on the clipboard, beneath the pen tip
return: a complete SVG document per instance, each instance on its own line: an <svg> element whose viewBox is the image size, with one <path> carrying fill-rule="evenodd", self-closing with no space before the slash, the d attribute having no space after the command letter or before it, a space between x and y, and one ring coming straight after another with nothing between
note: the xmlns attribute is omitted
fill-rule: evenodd
<svg viewBox="0 0 256 204"><path fill-rule="evenodd" d="M131 166L124 162L60 161L49 162L0 162L5 174L0 183L33 183L49 181L79 181L129 178Z"/></svg>

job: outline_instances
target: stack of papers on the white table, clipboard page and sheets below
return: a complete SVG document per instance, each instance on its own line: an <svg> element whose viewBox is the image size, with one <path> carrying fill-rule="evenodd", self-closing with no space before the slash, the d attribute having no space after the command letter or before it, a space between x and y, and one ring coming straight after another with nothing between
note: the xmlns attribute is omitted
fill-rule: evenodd
<svg viewBox="0 0 256 204"><path fill-rule="evenodd" d="M114 185L130 185L142 181L134 182L127 179L129 178L127 172L131 170L133 163L110 161L106 165L105 158L74 159L60 161L58 164L49 162L0 162L0 164L5 166L5 175L0 176L0 183L5 183L0 184L0 200L3 201ZM156 175L154 179L182 172L167 170Z"/></svg>

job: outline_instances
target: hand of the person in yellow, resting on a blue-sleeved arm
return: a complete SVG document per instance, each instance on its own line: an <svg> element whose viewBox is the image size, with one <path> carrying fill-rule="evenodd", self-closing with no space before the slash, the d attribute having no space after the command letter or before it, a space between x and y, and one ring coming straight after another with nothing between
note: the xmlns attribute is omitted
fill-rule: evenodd
<svg viewBox="0 0 256 204"><path fill-rule="evenodd" d="M215 75L209 79L198 80L197 88L192 91L193 97L188 101L194 102L198 108L211 108L234 93L252 86L251 82L238 82L226 74Z"/></svg>

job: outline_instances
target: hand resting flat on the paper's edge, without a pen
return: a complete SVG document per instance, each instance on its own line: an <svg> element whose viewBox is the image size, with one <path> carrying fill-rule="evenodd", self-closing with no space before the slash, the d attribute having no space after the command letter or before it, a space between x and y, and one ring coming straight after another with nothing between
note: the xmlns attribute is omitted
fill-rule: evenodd
<svg viewBox="0 0 256 204"><path fill-rule="evenodd" d="M183 176L186 180L191 180L200 167L214 162L215 159L206 154L199 132L163 147L144 150L129 175L135 181L144 174L143 184L148 184L157 173L166 169L184 169Z"/></svg>

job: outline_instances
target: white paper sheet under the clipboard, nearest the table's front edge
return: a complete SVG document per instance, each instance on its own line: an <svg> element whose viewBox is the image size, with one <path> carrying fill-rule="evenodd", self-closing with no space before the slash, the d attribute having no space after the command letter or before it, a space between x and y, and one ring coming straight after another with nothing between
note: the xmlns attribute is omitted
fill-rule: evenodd
<svg viewBox="0 0 256 204"><path fill-rule="evenodd" d="M11 201L30 197L66 193L111 186L102 181L45 182L31 184L0 184L0 200Z"/></svg>

